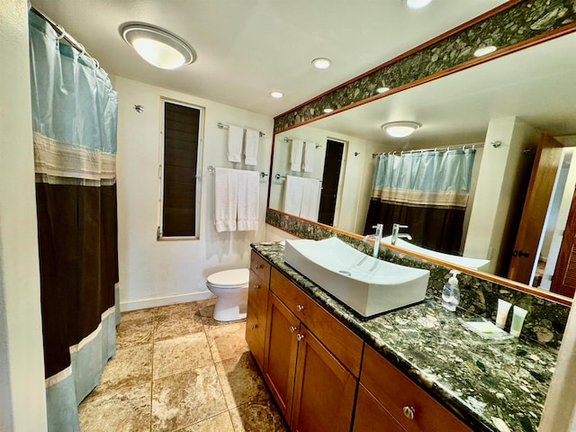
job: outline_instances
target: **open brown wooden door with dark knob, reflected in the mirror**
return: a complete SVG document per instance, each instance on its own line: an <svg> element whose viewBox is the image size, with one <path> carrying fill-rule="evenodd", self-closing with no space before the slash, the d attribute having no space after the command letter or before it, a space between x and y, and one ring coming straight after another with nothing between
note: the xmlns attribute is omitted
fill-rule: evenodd
<svg viewBox="0 0 576 432"><path fill-rule="evenodd" d="M547 133L542 134L508 273L509 279L522 284L530 283L562 150L560 142Z"/></svg>

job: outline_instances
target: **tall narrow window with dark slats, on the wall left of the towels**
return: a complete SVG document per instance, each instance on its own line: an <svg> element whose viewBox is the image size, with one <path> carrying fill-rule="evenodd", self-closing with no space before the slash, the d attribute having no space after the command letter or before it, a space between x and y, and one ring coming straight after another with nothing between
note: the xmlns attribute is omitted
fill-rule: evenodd
<svg viewBox="0 0 576 432"><path fill-rule="evenodd" d="M160 226L157 238L197 238L200 220L198 161L203 109L163 101Z"/></svg>

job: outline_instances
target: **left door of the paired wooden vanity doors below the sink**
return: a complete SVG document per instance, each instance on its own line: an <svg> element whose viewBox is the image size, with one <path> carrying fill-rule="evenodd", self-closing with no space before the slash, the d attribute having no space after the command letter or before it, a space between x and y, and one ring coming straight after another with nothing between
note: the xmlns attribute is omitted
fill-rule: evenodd
<svg viewBox="0 0 576 432"><path fill-rule="evenodd" d="M264 378L284 419L290 420L300 321L274 293L268 295Z"/></svg>

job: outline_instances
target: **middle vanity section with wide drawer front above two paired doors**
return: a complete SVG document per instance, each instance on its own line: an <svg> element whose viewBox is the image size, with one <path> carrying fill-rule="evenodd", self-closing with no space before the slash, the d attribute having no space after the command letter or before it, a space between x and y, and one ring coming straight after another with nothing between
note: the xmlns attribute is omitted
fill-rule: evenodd
<svg viewBox="0 0 576 432"><path fill-rule="evenodd" d="M274 268L266 326L263 372L291 430L349 431L362 339Z"/></svg>

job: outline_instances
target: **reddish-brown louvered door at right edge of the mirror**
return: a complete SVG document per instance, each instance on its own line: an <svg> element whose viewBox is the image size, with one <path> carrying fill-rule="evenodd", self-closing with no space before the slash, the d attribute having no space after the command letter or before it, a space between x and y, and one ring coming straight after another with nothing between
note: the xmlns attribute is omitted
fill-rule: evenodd
<svg viewBox="0 0 576 432"><path fill-rule="evenodd" d="M554 268L550 291L567 297L574 297L576 289L576 191L568 212L568 220Z"/></svg>

